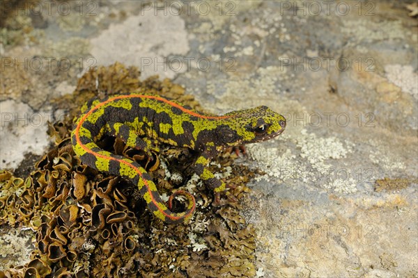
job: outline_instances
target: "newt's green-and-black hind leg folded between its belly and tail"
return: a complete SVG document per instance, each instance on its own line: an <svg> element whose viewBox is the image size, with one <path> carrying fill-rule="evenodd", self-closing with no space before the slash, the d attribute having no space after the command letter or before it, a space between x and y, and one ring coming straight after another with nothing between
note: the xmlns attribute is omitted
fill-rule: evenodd
<svg viewBox="0 0 418 278"><path fill-rule="evenodd" d="M109 123L107 133L110 136L120 137L129 147L142 150L150 161L153 161L151 151L160 152L160 148L157 145L158 140L142 138L136 131L121 122Z"/></svg>

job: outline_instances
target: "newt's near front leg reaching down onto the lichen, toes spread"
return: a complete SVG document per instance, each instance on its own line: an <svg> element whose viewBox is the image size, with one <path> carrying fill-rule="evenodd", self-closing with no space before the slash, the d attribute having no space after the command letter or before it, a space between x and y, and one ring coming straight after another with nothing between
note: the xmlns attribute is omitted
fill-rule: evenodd
<svg viewBox="0 0 418 278"><path fill-rule="evenodd" d="M202 152L201 156L196 159L194 164L194 171L202 179L208 188L212 189L215 194L215 204L220 203L221 193L224 193L231 201L236 202L237 199L227 190L229 188L235 188L233 185L227 185L224 181L217 179L215 175L208 169L208 164L212 158L213 150L208 148L205 152Z"/></svg>

